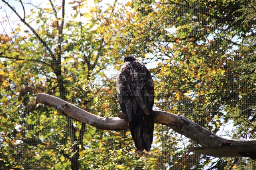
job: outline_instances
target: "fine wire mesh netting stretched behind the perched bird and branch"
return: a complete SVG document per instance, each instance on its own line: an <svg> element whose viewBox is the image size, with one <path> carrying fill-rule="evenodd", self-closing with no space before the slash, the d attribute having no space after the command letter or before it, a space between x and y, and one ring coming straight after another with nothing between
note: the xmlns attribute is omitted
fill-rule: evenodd
<svg viewBox="0 0 256 170"><path fill-rule="evenodd" d="M0 169L255 169L155 123L150 152L36 102L46 93L118 117L116 79L133 55L154 80L153 109L228 139L256 133L254 1L2 0ZM189 130L187 132L190 133Z"/></svg>

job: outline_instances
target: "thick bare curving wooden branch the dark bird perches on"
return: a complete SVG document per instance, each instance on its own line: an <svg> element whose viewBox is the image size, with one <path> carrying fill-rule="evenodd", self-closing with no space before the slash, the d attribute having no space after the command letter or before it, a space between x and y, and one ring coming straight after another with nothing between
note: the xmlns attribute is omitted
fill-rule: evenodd
<svg viewBox="0 0 256 170"><path fill-rule="evenodd" d="M64 100L49 94L38 93L36 102L44 105L51 106L59 113L68 115L78 121L89 124L98 129L107 130L125 130L129 129L128 121L124 118L125 115L120 112L119 117L109 118L93 115L81 108L78 108ZM199 126L195 122L187 119L182 115L174 115L165 111L154 110L154 122L169 126L174 131L184 135L203 146L221 146L221 145L253 145L256 144L256 139L238 140L238 139L225 139L211 131Z"/></svg>

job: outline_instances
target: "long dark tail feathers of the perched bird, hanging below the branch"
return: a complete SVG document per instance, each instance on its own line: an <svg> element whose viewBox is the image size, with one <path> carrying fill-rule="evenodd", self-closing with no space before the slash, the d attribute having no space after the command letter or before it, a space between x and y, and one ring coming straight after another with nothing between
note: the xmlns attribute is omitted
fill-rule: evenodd
<svg viewBox="0 0 256 170"><path fill-rule="evenodd" d="M129 127L137 150L143 152L146 149L149 152L153 142L153 115L146 115L143 109L138 107L132 121L129 122Z"/></svg>

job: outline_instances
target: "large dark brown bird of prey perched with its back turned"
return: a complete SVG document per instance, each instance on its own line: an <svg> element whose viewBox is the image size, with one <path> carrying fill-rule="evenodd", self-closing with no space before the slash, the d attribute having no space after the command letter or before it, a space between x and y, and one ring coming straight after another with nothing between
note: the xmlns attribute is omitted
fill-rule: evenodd
<svg viewBox="0 0 256 170"><path fill-rule="evenodd" d="M132 55L124 57L116 80L116 91L137 150L149 152L154 131L154 81L146 66Z"/></svg>

